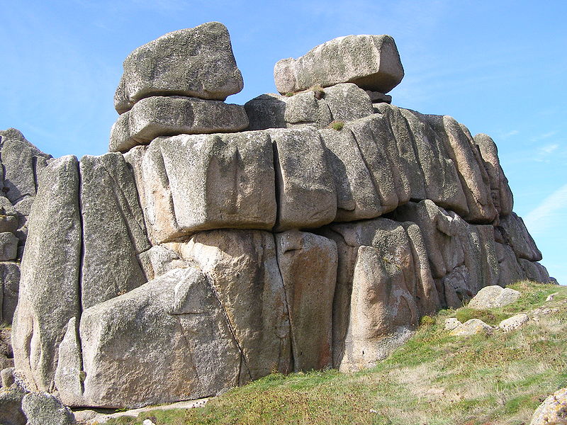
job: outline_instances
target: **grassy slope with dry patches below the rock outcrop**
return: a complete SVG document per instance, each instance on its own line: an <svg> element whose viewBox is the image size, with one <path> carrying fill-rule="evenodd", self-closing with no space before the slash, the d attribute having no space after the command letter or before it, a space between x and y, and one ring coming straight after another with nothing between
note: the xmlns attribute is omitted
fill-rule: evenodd
<svg viewBox="0 0 567 425"><path fill-rule="evenodd" d="M206 407L152 412L108 424L403 424L520 425L551 392L567 386L567 288L511 285L522 297L489 312L444 310L375 368L269 375ZM551 302L547 295L558 292ZM446 317L490 324L536 307L559 311L505 334L449 336Z"/></svg>

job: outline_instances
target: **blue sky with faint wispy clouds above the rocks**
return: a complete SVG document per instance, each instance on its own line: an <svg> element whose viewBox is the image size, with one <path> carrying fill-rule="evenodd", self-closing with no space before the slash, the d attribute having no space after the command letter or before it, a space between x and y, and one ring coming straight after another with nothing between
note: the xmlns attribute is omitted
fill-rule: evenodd
<svg viewBox="0 0 567 425"><path fill-rule="evenodd" d="M567 283L566 1L4 1L0 129L45 152L103 154L113 94L135 47L224 23L245 103L274 92L273 67L339 35L390 34L405 78L393 103L452 115L498 145L515 211Z"/></svg>

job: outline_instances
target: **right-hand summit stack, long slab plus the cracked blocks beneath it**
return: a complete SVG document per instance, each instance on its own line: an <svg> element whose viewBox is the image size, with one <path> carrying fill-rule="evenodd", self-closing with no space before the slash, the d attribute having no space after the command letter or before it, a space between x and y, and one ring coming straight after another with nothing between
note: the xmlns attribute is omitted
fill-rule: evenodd
<svg viewBox="0 0 567 425"><path fill-rule="evenodd" d="M245 105L250 130L326 128L372 115L391 103L403 67L389 35L347 35L318 45L274 67L280 94L262 94Z"/></svg>

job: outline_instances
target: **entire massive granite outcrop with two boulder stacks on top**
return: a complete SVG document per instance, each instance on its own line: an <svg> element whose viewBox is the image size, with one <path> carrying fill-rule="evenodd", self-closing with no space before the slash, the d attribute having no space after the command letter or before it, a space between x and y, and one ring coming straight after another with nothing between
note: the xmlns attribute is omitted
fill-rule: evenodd
<svg viewBox="0 0 567 425"><path fill-rule="evenodd" d="M223 26L170 33L128 57L111 136L122 153L51 162L33 205L13 326L32 390L137 407L274 371L358 370L424 314L487 285L548 280L490 137L373 101L365 90L403 77L391 38L322 46L286 61L300 91L285 96L291 108L261 96L247 104L249 131L215 134L167 123L186 118L178 96L225 108L203 98L242 87ZM205 84L228 74L221 94ZM163 115L150 114L144 139L128 130L118 142L145 101L163 101ZM325 128L337 117L343 125Z"/></svg>

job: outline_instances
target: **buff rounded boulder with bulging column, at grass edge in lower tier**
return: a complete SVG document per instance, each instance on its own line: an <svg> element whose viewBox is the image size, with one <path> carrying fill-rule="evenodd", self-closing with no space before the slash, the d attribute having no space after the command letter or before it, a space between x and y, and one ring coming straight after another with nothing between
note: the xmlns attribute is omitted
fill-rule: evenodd
<svg viewBox="0 0 567 425"><path fill-rule="evenodd" d="M339 370L371 367L439 308L417 225L385 218L331 225L339 262L333 357Z"/></svg>

